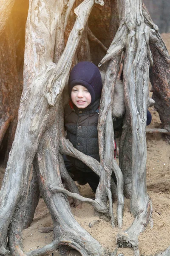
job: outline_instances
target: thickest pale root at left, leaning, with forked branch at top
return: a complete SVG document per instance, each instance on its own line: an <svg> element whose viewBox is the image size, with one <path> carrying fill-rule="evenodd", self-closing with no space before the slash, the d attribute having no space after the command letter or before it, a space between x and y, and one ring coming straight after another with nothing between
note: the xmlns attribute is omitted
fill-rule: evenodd
<svg viewBox="0 0 170 256"><path fill-rule="evenodd" d="M48 6L46 4L41 5L42 8L38 9L39 12L37 14L37 12L34 12L34 9L39 4L38 1L32 1L29 6L26 31L26 38L29 38L29 40L27 40L25 51L23 95L20 102L17 131L0 191L1 254L6 253L4 241L7 238L8 226L18 202L23 198L23 194L25 194L31 164L37 152L42 134L52 125L56 118L58 104L54 108L49 107L49 104L51 106L54 105L61 97L74 53L94 5L94 0L81 3L75 10L77 20L68 38L65 51L57 65L52 62L51 58L53 58L53 55L51 52L54 52L56 43L54 31L56 27L59 27L57 22L62 22L63 19L54 20L53 22L50 17L51 15L59 15L60 17L63 8L59 8L56 2L54 5L51 0ZM46 12L45 8L51 10L52 13ZM37 19L36 15L39 15L39 19ZM42 23L42 20L49 20L49 23ZM53 35L49 31L53 31ZM33 32L35 33L34 35L41 35L40 38L42 40L38 41L38 43L36 41L37 38L32 35ZM57 40L59 39L63 41L62 36L57 38ZM60 47L60 44L58 45ZM32 47L34 50L32 50ZM40 57L41 47L44 49L42 58ZM59 49L57 50L61 52Z"/></svg>

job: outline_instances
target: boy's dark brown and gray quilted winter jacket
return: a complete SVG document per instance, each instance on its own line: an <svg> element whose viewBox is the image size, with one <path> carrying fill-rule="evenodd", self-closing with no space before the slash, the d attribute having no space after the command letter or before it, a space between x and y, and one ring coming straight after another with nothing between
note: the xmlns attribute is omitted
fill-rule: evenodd
<svg viewBox="0 0 170 256"><path fill-rule="evenodd" d="M65 107L65 130L67 139L82 153L100 161L97 123L99 118L99 101L96 100L91 106L79 109L74 105ZM122 121L119 122L122 125ZM116 122L114 122L114 127ZM68 157L75 167L83 172L92 172L88 166L74 157Z"/></svg>

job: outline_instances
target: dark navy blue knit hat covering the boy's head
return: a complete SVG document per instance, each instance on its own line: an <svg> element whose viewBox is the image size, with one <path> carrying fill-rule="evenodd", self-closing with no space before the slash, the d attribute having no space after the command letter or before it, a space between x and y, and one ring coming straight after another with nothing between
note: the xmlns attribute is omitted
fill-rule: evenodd
<svg viewBox="0 0 170 256"><path fill-rule="evenodd" d="M68 80L70 99L71 90L75 85L86 87L91 94L91 104L94 103L96 99L100 98L102 92L102 78L98 67L88 61L82 61L75 65Z"/></svg>

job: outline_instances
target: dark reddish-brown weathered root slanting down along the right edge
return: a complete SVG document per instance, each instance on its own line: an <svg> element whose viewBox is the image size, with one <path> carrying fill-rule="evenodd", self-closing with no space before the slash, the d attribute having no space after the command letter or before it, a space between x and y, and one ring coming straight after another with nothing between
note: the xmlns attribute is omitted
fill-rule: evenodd
<svg viewBox="0 0 170 256"><path fill-rule="evenodd" d="M170 131L170 56L162 40L158 27L153 23L145 6L143 6L145 22L150 26L150 50L153 55L153 67L150 68L152 99L159 113L162 126Z"/></svg>

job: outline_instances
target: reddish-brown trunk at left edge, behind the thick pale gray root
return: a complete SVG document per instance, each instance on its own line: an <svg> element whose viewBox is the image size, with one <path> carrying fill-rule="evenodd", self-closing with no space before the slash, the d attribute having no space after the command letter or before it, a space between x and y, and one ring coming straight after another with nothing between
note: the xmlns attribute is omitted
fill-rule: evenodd
<svg viewBox="0 0 170 256"><path fill-rule="evenodd" d="M0 37L0 144L8 130L8 142L6 144L4 142L2 146L4 151L6 149L6 154L9 153L14 140L22 90L16 66L14 49L16 42L11 31L14 32L13 26L8 22Z"/></svg>

